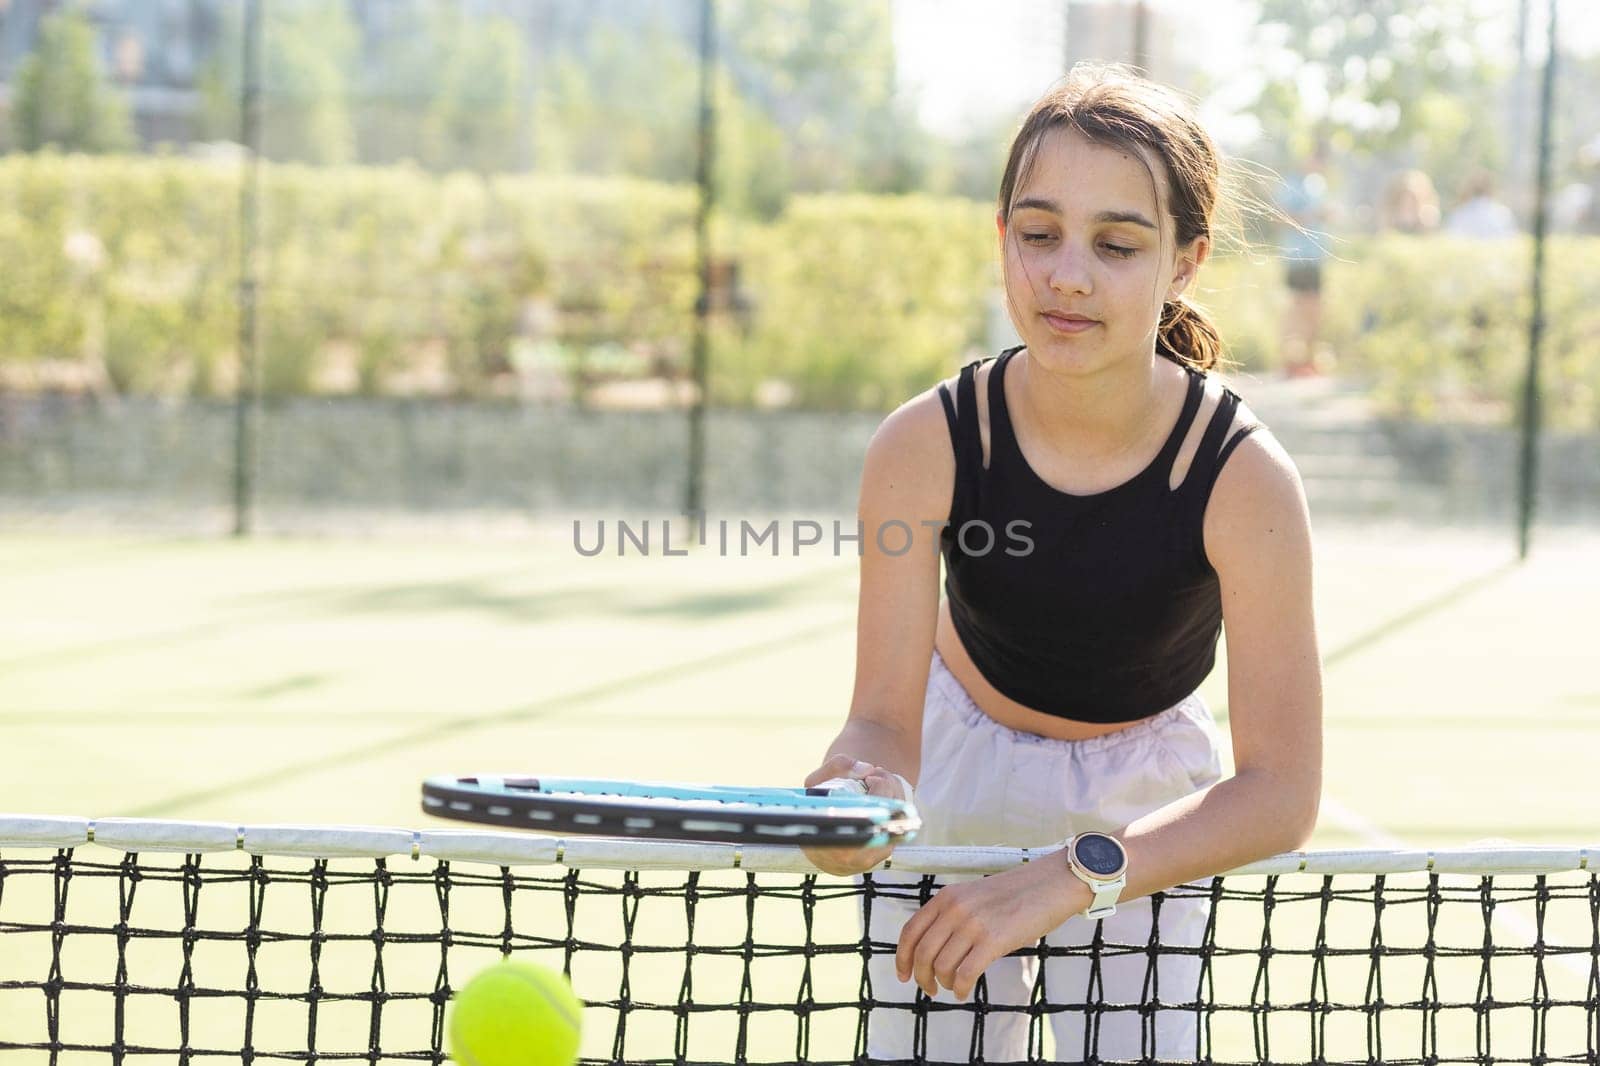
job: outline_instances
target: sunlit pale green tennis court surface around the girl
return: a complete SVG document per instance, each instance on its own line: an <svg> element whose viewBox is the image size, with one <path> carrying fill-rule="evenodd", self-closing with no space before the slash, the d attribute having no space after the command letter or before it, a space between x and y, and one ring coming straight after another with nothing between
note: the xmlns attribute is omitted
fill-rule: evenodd
<svg viewBox="0 0 1600 1066"><path fill-rule="evenodd" d="M1600 690L1574 624L1600 592L1594 547L1554 538L1514 565L1488 533L1320 535L1328 778L1312 847L1597 844ZM448 829L418 810L426 775L782 784L816 762L850 695L848 555L582 557L557 525L456 543L8 536L0 551L14 813ZM1226 709L1221 664L1205 691ZM789 1061L802 1047L806 1061L846 1061L861 1024L848 884L438 866L432 845L418 861L405 844L376 868L270 848L133 856L114 834L74 852L70 880L50 852L5 850L0 1042L35 1048L8 1052L19 1061L51 1061L51 1040L144 1047L146 1061L179 1040L266 1058L398 1048L405 1061L437 1047L438 989L507 946L571 970L592 1004L586 1061L672 1061L685 1042L688 1061ZM318 847L350 853L349 840ZM1387 882L1227 880L1214 1061L1304 1061L1317 1047L1470 1061L1491 957L1491 1048L1586 1045L1589 879L1501 876L1493 916L1477 877ZM53 911L75 935L53 936ZM245 936L246 922L270 932ZM1374 936L1392 944L1376 1029ZM69 984L51 1034L42 981L58 965ZM118 965L136 976L114 980ZM1318 1012L1318 996L1334 1007Z"/></svg>

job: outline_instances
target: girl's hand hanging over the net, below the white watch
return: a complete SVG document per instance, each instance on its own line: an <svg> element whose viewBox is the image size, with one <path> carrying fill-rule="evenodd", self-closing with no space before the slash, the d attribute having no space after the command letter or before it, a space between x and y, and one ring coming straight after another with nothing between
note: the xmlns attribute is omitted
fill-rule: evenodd
<svg viewBox="0 0 1600 1066"><path fill-rule="evenodd" d="M894 973L915 978L928 996L939 986L965 1000L997 959L1034 944L1091 903L1088 885L1072 876L1066 852L946 885L901 930Z"/></svg>

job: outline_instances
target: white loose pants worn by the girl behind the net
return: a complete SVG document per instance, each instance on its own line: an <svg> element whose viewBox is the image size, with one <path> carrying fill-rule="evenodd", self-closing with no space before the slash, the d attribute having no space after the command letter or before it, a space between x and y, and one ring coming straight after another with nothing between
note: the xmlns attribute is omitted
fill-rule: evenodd
<svg viewBox="0 0 1600 1066"><path fill-rule="evenodd" d="M1085 829L1114 831L1222 776L1221 736L1198 695L1136 725L1085 741L1058 741L1010 730L986 715L938 651L923 704L917 810L926 845L1056 845ZM1187 1060L1197 1056L1197 1015L1141 1005L1194 1004L1200 957L1149 952L1152 924L1162 949L1197 948L1210 904L1165 898L1158 919L1150 898L1091 922L1074 917L1046 938L1067 956L1000 959L984 972L989 1013L974 994L962 1004L949 989L933 1000L894 976L893 944L922 906L920 876L872 874L869 936L890 951L867 964L870 994L867 1055L874 1061L970 1063L978 1040L986 1063L1035 1060L1042 1026L1030 1034L1027 1004L1040 986L1056 1037L1056 1061ZM954 879L939 879L939 885ZM1155 919L1152 922L1152 919ZM1098 938L1098 940L1096 940ZM1042 980L1040 980L1042 978ZM1093 988L1091 988L1093 983ZM982 984L979 988L984 988Z"/></svg>

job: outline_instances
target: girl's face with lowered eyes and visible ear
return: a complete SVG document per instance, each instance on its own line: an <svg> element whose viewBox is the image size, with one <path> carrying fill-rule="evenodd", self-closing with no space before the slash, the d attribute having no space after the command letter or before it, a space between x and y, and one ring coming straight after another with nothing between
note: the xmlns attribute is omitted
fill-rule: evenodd
<svg viewBox="0 0 1600 1066"><path fill-rule="evenodd" d="M1011 322L1050 370L1093 373L1149 359L1162 303L1176 299L1205 259L1205 237L1173 248L1163 168L1150 163L1053 130L1011 218L995 219Z"/></svg>

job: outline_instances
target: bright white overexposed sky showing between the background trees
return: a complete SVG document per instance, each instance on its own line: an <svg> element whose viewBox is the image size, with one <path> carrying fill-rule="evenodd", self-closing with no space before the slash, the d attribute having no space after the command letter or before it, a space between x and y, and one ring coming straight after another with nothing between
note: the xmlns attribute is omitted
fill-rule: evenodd
<svg viewBox="0 0 1600 1066"><path fill-rule="evenodd" d="M896 67L918 96L923 122L954 133L978 118L1022 110L1062 67L1066 0L891 0ZM1514 37L1515 0L1478 0L1494 30ZM1531 38L1542 40L1546 0L1531 0ZM1600 51L1600 2L1560 0L1558 30L1579 53ZM1179 27L1202 69L1229 91L1202 104L1202 120L1224 146L1243 138L1238 110L1253 93L1240 78L1238 53L1256 18L1254 0L1149 0Z"/></svg>

